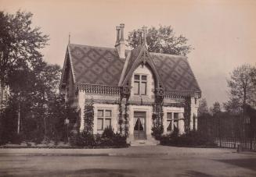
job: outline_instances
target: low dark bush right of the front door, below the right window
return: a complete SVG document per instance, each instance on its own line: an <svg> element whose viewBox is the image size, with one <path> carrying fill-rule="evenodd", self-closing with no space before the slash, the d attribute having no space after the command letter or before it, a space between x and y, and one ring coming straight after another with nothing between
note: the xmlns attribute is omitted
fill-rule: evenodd
<svg viewBox="0 0 256 177"><path fill-rule="evenodd" d="M206 146L215 147L216 144L213 139L208 138L204 133L197 131L190 131L189 133L178 136L178 132L173 132L169 135L161 136L160 144L168 146Z"/></svg>

